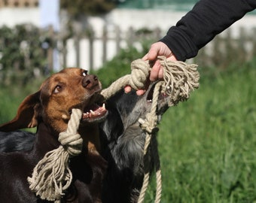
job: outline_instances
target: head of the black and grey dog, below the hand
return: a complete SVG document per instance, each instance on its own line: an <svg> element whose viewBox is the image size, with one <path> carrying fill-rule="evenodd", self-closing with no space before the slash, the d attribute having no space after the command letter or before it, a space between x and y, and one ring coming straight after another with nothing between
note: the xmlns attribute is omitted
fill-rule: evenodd
<svg viewBox="0 0 256 203"><path fill-rule="evenodd" d="M117 139L131 126L139 127L139 119L145 119L146 115L151 112L156 84L157 82L151 83L144 95L136 95L135 90L125 93L122 89L107 100L108 118L101 127L108 141ZM156 112L158 121L168 108L167 95L159 92Z"/></svg>

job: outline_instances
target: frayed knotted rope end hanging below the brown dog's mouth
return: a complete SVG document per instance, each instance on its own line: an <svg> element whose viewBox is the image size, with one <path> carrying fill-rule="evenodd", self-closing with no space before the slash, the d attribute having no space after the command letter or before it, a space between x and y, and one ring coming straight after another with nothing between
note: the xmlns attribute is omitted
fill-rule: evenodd
<svg viewBox="0 0 256 203"><path fill-rule="evenodd" d="M81 153L83 139L78 134L81 116L80 109L72 109L66 132L59 133L59 142L62 145L46 153L35 166L32 177L28 177L29 188L41 199L60 202L63 191L72 182L69 158Z"/></svg>

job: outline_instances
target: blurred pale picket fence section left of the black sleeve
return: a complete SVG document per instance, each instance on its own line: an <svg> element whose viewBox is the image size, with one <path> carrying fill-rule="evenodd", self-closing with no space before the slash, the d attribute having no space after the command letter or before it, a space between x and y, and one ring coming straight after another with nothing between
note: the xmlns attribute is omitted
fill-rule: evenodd
<svg viewBox="0 0 256 203"><path fill-rule="evenodd" d="M59 37L53 32L50 36L56 41L56 46L48 50L51 68L54 64L54 57L50 57L53 50L56 50L57 67L75 66L90 70L101 67L105 61L116 56L120 49L130 46L141 49L143 42L156 41L160 38L160 29L134 30L130 28L126 32L121 32L117 26L111 28L105 26L101 33L96 33L91 29L83 35L72 35L72 38Z"/></svg>

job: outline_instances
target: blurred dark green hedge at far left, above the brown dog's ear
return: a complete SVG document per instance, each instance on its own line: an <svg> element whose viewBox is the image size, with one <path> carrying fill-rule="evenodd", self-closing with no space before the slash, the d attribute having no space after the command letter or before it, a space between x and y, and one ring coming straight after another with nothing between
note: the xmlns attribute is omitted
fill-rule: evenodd
<svg viewBox="0 0 256 203"><path fill-rule="evenodd" d="M0 85L26 85L37 71L44 73L46 50L41 32L32 25L0 28Z"/></svg>

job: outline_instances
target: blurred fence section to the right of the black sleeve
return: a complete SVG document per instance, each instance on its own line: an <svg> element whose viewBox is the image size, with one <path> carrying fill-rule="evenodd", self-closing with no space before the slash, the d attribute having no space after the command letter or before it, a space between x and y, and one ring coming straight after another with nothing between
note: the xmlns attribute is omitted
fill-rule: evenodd
<svg viewBox="0 0 256 203"><path fill-rule="evenodd" d="M230 62L245 62L256 56L256 28L246 32L239 29L233 37L233 29L227 29L222 35L200 50L194 61L203 66L215 65L224 68Z"/></svg>

